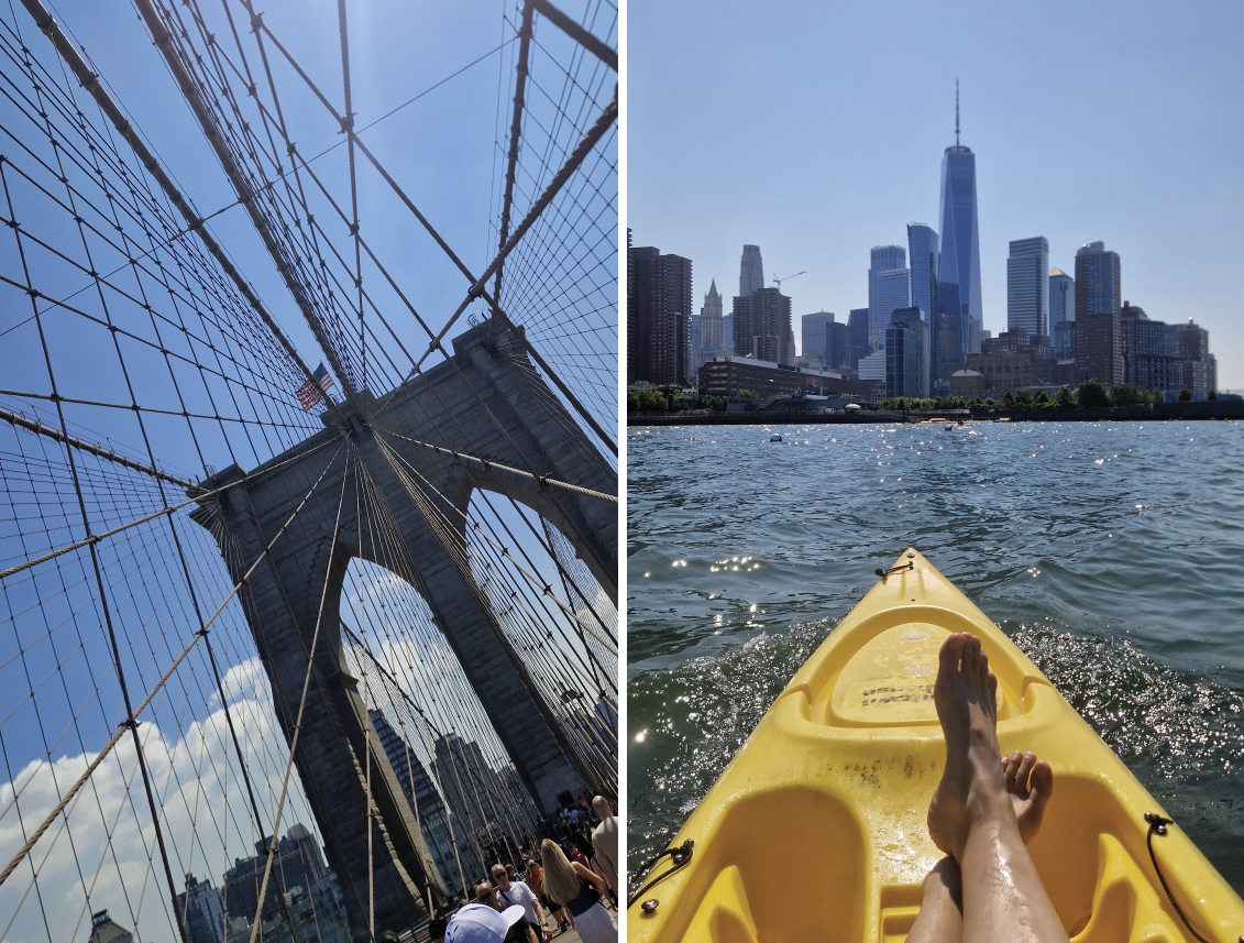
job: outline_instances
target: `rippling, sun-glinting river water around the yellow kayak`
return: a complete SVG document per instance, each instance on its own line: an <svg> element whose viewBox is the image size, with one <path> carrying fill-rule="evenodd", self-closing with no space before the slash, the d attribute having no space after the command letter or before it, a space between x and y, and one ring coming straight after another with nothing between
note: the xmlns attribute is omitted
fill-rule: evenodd
<svg viewBox="0 0 1244 943"><path fill-rule="evenodd" d="M631 875L916 546L1244 894L1242 469L1222 422L629 429Z"/></svg>

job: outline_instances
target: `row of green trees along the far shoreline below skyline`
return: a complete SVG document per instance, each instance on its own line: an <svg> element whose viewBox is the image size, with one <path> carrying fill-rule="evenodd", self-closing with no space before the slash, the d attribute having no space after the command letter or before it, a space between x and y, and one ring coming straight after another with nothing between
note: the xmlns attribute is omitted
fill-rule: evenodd
<svg viewBox="0 0 1244 943"><path fill-rule="evenodd" d="M740 389L736 394L744 399L759 399L760 394L754 389ZM771 398L771 397L770 397ZM1217 399L1217 393L1210 393L1209 399ZM680 413L690 411L707 411L712 413L724 413L726 397L699 396L694 401L683 396L677 387L653 387L652 389L628 391L628 413ZM1181 389L1178 401L1191 402L1192 393ZM1131 383L1116 383L1106 389L1096 379L1086 379L1075 389L1061 387L1054 396L1044 389L1031 393L1028 389L1016 389L1008 393L1001 399L975 398L965 402L960 397L932 397L928 399L908 399L904 397L891 397L882 399L878 406L887 413L901 412L943 412L947 409L968 409L972 413L999 413L1023 411L1065 412L1067 409L1108 409L1111 407L1146 406L1151 403L1166 402L1161 389L1141 389Z"/></svg>

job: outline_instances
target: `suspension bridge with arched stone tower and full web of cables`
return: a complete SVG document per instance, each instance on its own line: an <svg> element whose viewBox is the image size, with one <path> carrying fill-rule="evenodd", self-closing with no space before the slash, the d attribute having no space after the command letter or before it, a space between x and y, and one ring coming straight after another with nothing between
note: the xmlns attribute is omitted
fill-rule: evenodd
<svg viewBox="0 0 1244 943"><path fill-rule="evenodd" d="M617 795L617 9L111 6L0 14L0 938L418 932Z"/></svg>

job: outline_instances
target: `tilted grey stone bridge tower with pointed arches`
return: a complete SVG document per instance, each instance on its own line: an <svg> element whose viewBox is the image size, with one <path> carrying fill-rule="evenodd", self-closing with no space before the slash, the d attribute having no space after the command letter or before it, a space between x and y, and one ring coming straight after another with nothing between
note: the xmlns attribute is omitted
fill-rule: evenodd
<svg viewBox="0 0 1244 943"><path fill-rule="evenodd" d="M401 453L427 479L425 494L433 499L434 510L447 511L432 516L442 523L457 521L455 539L464 537L464 513L474 489L506 494L567 536L615 605L617 504L527 483L478 463L453 460L397 437L515 468L531 468L537 475L613 495L617 473L544 386L521 346L505 328L485 321L455 338L453 347L453 362L437 365L378 401L364 393L358 401L362 416L342 406L348 427L335 413L326 412L325 432L253 472L243 473L233 465L213 475L204 481L204 490L245 481L203 499L193 514L220 545L235 581L294 516L269 557L248 577L241 598L286 741L294 735L307 677L307 654L317 618L321 621L295 763L353 913L356 933L363 934L368 899L364 786L368 733L372 796L378 815L372 836L377 936L383 929L401 931L415 922L422 913L424 890L430 886L434 894L439 893L439 880L371 727L360 684L351 677L343 657L338 605L351 559L392 565L391 559L379 560L372 552L371 540L362 532L368 524L358 520L356 503L340 500L343 486L347 495L355 494L355 483L342 480L355 475L347 453L357 457L383 496L403 556L418 577L418 588L434 622L462 663L536 804L552 810L559 794L577 795L595 785L583 781L586 773L576 765L575 753L554 720L556 705L544 703L519 653L496 631L486 600L471 590L445 552L444 534L437 536L429 526L427 508L420 510L394 474L384 447ZM342 443L347 448L337 453L325 472ZM295 515L321 474L322 480ZM341 520L333 539L338 505ZM363 511L366 515L366 508ZM398 576L409 578L404 572Z"/></svg>

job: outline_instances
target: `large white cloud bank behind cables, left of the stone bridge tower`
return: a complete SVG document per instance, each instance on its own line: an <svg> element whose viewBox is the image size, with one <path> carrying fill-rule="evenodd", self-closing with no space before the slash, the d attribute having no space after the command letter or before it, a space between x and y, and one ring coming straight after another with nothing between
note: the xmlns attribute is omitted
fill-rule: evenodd
<svg viewBox="0 0 1244 943"><path fill-rule="evenodd" d="M225 692L256 801L270 827L289 751L272 715L266 677L256 659L250 662L230 669ZM178 891L184 890L187 871L219 886L235 857L254 853L259 837L224 709L218 697L210 700L202 719L188 723L173 741L156 724L138 729ZM27 764L15 776L25 784L17 806L0 819L0 848L16 852L93 758L88 753ZM297 775L290 781L281 832L296 821L313 830ZM12 799L14 783L0 784L0 809ZM29 860L0 887L0 939L82 939L90 933L91 913L104 908L121 926L134 929L137 939L175 939L168 881L129 735L71 804L67 830L63 824L63 816L53 822ZM39 872L37 890L31 887L32 866Z"/></svg>

